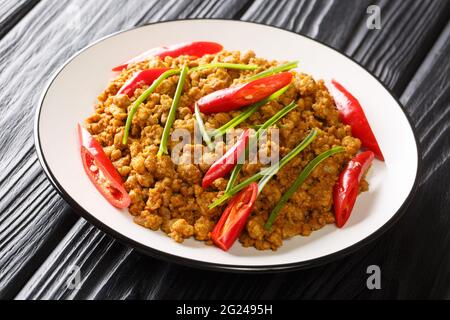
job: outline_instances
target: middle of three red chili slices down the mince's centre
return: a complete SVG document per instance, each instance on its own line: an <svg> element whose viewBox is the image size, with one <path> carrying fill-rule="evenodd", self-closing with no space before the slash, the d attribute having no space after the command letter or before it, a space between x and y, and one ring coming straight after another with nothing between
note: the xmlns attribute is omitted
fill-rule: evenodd
<svg viewBox="0 0 450 320"><path fill-rule="evenodd" d="M209 168L203 177L202 188L208 188L216 179L224 177L236 166L238 159L245 152L249 139L249 130L245 130L236 144Z"/></svg>

